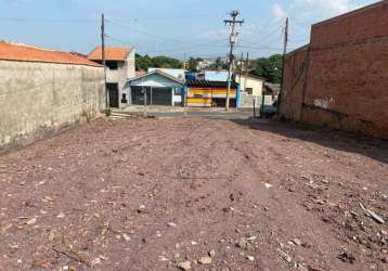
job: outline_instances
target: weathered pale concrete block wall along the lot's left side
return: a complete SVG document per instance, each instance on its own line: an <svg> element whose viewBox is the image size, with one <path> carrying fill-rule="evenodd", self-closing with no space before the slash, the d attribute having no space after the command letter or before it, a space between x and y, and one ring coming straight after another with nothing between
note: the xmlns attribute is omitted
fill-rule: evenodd
<svg viewBox="0 0 388 271"><path fill-rule="evenodd" d="M0 151L93 118L104 107L102 67L0 61Z"/></svg>

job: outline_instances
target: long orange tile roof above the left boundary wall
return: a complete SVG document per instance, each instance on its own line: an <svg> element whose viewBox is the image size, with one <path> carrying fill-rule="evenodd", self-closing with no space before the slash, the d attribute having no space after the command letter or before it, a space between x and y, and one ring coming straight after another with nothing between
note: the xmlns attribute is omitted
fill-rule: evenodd
<svg viewBox="0 0 388 271"><path fill-rule="evenodd" d="M8 41L0 41L0 60L101 66L78 54Z"/></svg>

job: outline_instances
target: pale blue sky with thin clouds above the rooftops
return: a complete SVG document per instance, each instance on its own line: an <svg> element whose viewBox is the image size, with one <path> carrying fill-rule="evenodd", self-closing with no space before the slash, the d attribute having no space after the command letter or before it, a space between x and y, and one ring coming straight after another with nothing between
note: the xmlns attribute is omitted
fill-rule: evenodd
<svg viewBox="0 0 388 271"><path fill-rule="evenodd" d="M235 54L281 53L289 17L288 51L309 42L320 21L376 0L0 0L0 40L89 53L101 43L105 14L107 46L127 46L150 55L216 57L228 53L230 27L240 11Z"/></svg>

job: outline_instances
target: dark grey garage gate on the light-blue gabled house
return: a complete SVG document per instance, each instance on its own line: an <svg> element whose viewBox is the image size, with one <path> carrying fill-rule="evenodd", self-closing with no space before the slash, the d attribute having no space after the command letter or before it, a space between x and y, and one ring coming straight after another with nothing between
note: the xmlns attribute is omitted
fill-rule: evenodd
<svg viewBox="0 0 388 271"><path fill-rule="evenodd" d="M147 94L147 104L152 105L171 105L171 88L144 88ZM142 87L131 87L132 104L144 104L144 93Z"/></svg>

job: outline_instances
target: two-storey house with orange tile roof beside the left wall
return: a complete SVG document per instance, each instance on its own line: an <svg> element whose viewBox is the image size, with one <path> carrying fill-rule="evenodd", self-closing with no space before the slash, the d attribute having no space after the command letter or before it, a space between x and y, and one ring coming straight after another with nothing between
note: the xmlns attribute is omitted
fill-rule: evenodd
<svg viewBox="0 0 388 271"><path fill-rule="evenodd" d="M89 55L90 61L102 64L102 49L95 48ZM129 103L127 81L135 77L134 49L127 47L105 48L106 90L111 107L122 107Z"/></svg>

